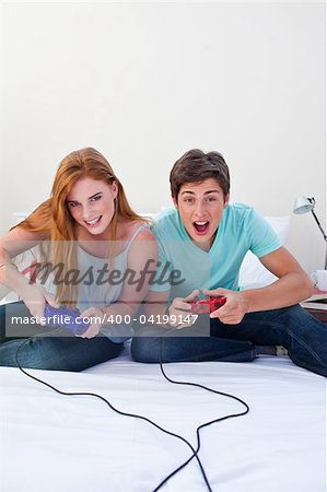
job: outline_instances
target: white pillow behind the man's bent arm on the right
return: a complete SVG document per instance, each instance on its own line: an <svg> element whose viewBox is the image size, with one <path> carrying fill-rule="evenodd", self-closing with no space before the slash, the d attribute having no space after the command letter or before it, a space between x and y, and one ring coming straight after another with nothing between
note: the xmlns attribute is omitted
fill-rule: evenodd
<svg viewBox="0 0 327 492"><path fill-rule="evenodd" d="M281 243L284 244L289 231L290 216L265 216L265 219L277 233ZM238 283L241 288L254 289L269 285L276 280L277 277L267 270L252 251L247 251L240 270Z"/></svg>

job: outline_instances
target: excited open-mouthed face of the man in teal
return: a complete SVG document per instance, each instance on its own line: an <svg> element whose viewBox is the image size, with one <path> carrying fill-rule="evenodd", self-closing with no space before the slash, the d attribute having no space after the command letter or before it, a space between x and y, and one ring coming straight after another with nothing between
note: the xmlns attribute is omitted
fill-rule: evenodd
<svg viewBox="0 0 327 492"><path fill-rule="evenodd" d="M211 246L229 198L229 195L224 197L214 178L186 183L180 187L174 204L191 241L200 247L201 244Z"/></svg>

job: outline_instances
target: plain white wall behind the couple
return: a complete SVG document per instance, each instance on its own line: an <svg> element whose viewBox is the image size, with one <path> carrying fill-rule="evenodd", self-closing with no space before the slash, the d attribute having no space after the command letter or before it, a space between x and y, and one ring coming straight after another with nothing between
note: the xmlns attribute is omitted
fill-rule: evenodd
<svg viewBox="0 0 327 492"><path fill-rule="evenodd" d="M234 201L284 215L314 196L326 224L325 2L4 2L1 22L1 232L86 145L139 211L170 204L173 163L201 148L224 154ZM324 246L292 216L308 272Z"/></svg>

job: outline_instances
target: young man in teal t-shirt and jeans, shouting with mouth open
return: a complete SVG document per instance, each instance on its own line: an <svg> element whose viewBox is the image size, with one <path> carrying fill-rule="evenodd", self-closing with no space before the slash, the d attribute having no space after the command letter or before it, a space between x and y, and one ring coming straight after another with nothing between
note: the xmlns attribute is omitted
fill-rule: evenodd
<svg viewBox="0 0 327 492"><path fill-rule="evenodd" d="M171 282L151 288L149 323L132 341L133 359L248 362L264 345L283 345L295 364L326 377L327 327L297 304L311 296L312 282L253 208L229 203L230 174L223 156L186 152L170 180L175 209L157 216L153 232ZM240 289L247 250L278 277L276 282ZM223 296L225 304L192 323L191 302L209 295ZM161 321L167 324L160 326Z"/></svg>

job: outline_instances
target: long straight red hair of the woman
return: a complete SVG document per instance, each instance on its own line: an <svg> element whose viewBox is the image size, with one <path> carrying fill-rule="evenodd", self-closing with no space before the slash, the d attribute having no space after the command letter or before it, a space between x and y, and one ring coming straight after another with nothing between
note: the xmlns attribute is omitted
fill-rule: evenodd
<svg viewBox="0 0 327 492"><path fill-rule="evenodd" d="M117 238L118 220L143 221L129 206L124 187L114 173L108 161L95 149L85 148L68 154L60 163L55 176L51 196L44 201L32 214L22 221L19 226L30 232L39 233L46 242L40 250L46 261L54 266L63 265L63 276L70 268L77 268L78 254L75 242L78 227L71 216L67 198L72 186L84 177L91 177L112 185L117 184L118 194L115 199L115 213L110 223L110 239ZM75 306L78 292L74 285L57 285L57 300L62 304Z"/></svg>

